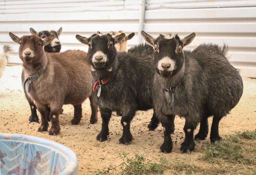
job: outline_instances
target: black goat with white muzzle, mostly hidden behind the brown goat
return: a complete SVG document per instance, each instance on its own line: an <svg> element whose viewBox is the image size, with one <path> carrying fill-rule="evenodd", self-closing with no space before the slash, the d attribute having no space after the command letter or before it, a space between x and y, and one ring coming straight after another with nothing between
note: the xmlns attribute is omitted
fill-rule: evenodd
<svg viewBox="0 0 256 175"><path fill-rule="evenodd" d="M60 52L61 44L60 44L60 41L59 41L58 37L61 35L62 27L59 28L59 30L57 32L54 31L54 30L51 30L50 32L49 31L41 31L38 34L33 28L30 28L30 32L31 32L31 34L38 35L42 39L44 39L46 37L49 37L50 35L54 35L53 41L51 41L50 44L44 46L43 49L45 50L45 52L49 52L49 53ZM21 74L22 84L23 84L23 82L25 80L23 74L24 73L23 73L23 70L22 70L22 74ZM27 98L27 100L29 102L30 110L31 110L31 115L29 116L29 121L30 122L37 122L37 123L39 123L39 119L38 119L38 116L37 116L37 107L36 107L36 105L29 98L29 96L27 95L26 92L25 92L25 96L26 96L26 98ZM63 111L63 109L62 109L62 111ZM50 121L49 114L50 114L50 108L47 106L47 119L48 119L48 121Z"/></svg>

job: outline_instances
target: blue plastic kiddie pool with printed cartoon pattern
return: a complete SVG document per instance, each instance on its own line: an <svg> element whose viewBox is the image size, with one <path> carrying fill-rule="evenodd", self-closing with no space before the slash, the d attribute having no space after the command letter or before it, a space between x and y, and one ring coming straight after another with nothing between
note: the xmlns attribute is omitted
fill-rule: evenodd
<svg viewBox="0 0 256 175"><path fill-rule="evenodd" d="M1 175L77 174L75 153L40 137L0 133Z"/></svg>

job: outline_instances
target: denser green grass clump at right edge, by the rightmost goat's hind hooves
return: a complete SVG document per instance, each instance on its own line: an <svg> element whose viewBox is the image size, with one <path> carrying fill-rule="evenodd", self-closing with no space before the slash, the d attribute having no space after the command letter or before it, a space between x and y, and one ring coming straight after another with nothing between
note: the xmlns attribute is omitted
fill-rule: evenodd
<svg viewBox="0 0 256 175"><path fill-rule="evenodd" d="M256 165L256 151L253 149L255 136L256 130L238 132L235 135L226 136L221 141L206 146L202 160L217 164L229 162ZM251 140L245 142L243 138Z"/></svg>

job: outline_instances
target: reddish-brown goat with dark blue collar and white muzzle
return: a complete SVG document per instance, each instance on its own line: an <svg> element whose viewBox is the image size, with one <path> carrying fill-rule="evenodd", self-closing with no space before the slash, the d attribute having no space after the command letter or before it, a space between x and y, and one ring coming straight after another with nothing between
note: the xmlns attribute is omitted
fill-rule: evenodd
<svg viewBox="0 0 256 175"><path fill-rule="evenodd" d="M46 106L50 105L51 128L50 135L60 131L59 114L63 104L74 106L74 118L71 123L77 125L82 117L82 103L91 96L91 67L86 58L86 52L81 50L67 50L61 53L46 53L43 46L49 44L54 35L41 39L37 35L19 38L9 33L11 39L20 44L19 57L22 60L24 78L38 75L39 78L27 83L25 90L30 99L37 106L42 122L38 131L48 129ZM29 88L30 87L30 88ZM91 118L97 119L97 106L91 102Z"/></svg>

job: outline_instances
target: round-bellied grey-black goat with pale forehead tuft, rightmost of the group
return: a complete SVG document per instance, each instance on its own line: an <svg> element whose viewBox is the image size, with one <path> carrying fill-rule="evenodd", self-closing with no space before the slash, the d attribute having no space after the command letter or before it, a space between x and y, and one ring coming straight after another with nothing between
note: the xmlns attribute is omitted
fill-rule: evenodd
<svg viewBox="0 0 256 175"><path fill-rule="evenodd" d="M164 127L164 142L161 151L172 150L169 116L185 117L185 141L181 152L194 150L193 133L200 122L200 130L195 139L205 139L208 134L207 118L213 116L210 140L220 140L219 121L229 113L240 100L243 82L239 71L226 58L227 46L220 48L214 44L201 44L192 52L183 52L195 33L180 39L178 35L157 39L141 32L144 39L154 47L153 65L156 71L153 85L153 100L156 116ZM171 92L174 88L174 105Z"/></svg>

